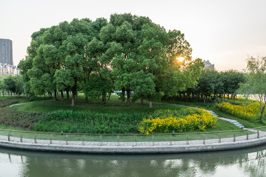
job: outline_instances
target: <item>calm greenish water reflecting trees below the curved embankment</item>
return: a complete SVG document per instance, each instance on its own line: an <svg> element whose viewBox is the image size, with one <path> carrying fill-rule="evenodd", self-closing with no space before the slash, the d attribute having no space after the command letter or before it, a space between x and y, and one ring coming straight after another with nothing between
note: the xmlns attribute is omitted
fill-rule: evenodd
<svg viewBox="0 0 266 177"><path fill-rule="evenodd" d="M0 177L266 177L266 146L159 155L90 155L0 148Z"/></svg>

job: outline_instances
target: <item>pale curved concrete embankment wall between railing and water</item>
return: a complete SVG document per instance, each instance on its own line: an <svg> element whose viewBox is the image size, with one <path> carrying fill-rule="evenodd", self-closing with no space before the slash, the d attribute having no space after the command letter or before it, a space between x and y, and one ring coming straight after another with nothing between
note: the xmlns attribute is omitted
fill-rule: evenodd
<svg viewBox="0 0 266 177"><path fill-rule="evenodd" d="M238 148L249 148L266 144L266 137L243 140L237 142L212 143L212 144L191 144L172 146L74 146L74 145L42 145L21 143L12 141L0 141L0 147L17 148L34 151L56 151L56 152L79 152L79 153L182 153L200 152L214 150L228 150Z"/></svg>

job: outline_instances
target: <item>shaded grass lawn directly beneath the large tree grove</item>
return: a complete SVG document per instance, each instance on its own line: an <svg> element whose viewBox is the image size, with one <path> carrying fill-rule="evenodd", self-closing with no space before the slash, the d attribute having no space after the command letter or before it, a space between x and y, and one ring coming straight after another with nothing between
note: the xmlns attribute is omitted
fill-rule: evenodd
<svg viewBox="0 0 266 177"><path fill-rule="evenodd" d="M92 102L85 101L83 95L78 95L76 100L76 106L71 107L71 99L65 99L65 102L62 103L61 100L54 101L53 99L44 99L31 101L27 104L17 105L13 108L20 111L35 111L35 112L52 112L57 110L72 110L72 111L91 111L97 113L152 113L158 109L181 109L183 106L173 105L168 103L153 103L153 108L149 108L148 102L144 101L144 105L141 105L139 102L131 103L130 106L126 105L126 102L118 99L117 95L111 95L110 100L107 100L106 104L103 104L101 100L96 100Z"/></svg>

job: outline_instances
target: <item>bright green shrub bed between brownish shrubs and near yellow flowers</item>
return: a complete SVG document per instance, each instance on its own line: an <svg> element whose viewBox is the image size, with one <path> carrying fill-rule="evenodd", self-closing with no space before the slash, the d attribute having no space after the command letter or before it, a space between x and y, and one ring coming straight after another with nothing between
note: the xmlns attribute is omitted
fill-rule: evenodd
<svg viewBox="0 0 266 177"><path fill-rule="evenodd" d="M55 111L34 126L36 131L67 133L136 133L144 114Z"/></svg>

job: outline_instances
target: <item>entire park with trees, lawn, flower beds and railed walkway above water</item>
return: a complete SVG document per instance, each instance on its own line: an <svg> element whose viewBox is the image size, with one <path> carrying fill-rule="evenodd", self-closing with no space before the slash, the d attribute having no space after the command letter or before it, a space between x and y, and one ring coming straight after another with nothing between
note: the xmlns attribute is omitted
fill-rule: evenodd
<svg viewBox="0 0 266 177"><path fill-rule="evenodd" d="M266 144L266 57L248 56L243 71L203 69L185 34L162 25L113 13L33 32L20 74L0 76L0 146L159 154Z"/></svg>

